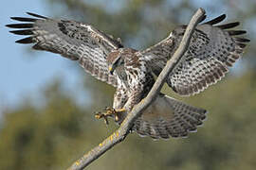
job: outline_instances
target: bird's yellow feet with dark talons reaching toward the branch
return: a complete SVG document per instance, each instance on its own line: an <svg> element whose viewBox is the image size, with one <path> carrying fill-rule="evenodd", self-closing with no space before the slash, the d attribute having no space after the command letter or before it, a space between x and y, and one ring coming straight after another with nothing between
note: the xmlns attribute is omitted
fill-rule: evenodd
<svg viewBox="0 0 256 170"><path fill-rule="evenodd" d="M125 111L124 108L119 109L119 110L115 110L114 108L106 107L105 112L96 112L95 118L97 118L97 119L103 118L104 121L105 121L105 124L108 125L107 117L114 116L115 121L118 122L119 121L119 112L123 112L123 111Z"/></svg>

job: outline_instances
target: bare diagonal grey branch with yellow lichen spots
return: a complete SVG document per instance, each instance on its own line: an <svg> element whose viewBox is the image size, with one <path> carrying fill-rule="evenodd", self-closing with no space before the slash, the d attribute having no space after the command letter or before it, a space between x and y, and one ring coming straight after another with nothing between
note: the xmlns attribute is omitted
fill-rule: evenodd
<svg viewBox="0 0 256 170"><path fill-rule="evenodd" d="M94 147L91 151L84 154L81 159L75 161L68 170L82 170L87 165L89 165L92 161L97 160L103 153L113 147L115 144L119 144L122 142L125 137L129 134L131 127L133 126L135 120L143 110L146 110L147 107L151 105L151 103L155 100L156 96L160 92L166 77L174 70L175 65L181 59L183 54L189 47L192 32L197 26L197 24L201 21L202 17L205 15L205 10L203 8L198 8L196 13L192 16L192 20L189 26L186 29L186 32L183 36L182 41L179 44L179 47L174 53L174 56L167 62L166 66L162 70L161 74L157 77L153 88L150 93L148 93L147 97L143 99L134 109L127 114L127 117L124 119L119 129L115 131L111 136L105 139L101 144Z"/></svg>

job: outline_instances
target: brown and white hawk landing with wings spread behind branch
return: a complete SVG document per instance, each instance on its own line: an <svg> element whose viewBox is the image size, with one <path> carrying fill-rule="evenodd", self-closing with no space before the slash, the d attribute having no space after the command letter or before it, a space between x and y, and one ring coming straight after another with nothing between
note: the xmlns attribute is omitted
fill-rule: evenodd
<svg viewBox="0 0 256 170"><path fill-rule="evenodd" d="M120 39L90 24L27 14L32 17L11 17L23 23L7 25L17 28L9 32L28 36L16 42L35 43L33 49L78 60L87 73L116 87L113 108L96 117L110 116L119 124L150 92L155 76L174 55L186 29L186 26L177 26L163 41L139 51L124 47ZM196 26L188 50L166 80L175 93L192 95L204 91L225 76L241 57L249 40L240 35L246 31L230 29L238 26L238 22L218 25L225 18L223 14ZM186 137L202 125L206 112L159 93L153 104L137 118L132 130L154 139Z"/></svg>

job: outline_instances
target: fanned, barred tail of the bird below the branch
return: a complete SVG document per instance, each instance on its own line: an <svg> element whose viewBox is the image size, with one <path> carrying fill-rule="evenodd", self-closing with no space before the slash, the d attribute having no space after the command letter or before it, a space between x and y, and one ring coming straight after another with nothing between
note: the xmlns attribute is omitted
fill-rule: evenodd
<svg viewBox="0 0 256 170"><path fill-rule="evenodd" d="M133 130L154 139L186 137L203 124L206 110L187 105L160 94L155 102L137 118Z"/></svg>

